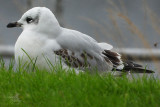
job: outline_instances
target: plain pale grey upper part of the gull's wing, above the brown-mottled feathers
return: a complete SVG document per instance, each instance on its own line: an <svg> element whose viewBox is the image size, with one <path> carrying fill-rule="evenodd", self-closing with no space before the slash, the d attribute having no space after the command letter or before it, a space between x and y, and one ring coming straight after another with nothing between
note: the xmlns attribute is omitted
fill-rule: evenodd
<svg viewBox="0 0 160 107"><path fill-rule="evenodd" d="M103 60L102 49L96 40L81 32L62 28L62 33L57 37L57 42L63 49L73 52L83 53L84 51L91 56Z"/></svg>

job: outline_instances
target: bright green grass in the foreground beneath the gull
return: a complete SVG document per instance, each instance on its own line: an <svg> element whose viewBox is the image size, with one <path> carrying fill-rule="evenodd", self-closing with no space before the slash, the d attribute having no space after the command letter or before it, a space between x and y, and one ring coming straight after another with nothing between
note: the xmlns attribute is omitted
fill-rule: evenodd
<svg viewBox="0 0 160 107"><path fill-rule="evenodd" d="M2 61L3 62L3 61ZM0 106L159 107L160 80L0 68Z"/></svg>

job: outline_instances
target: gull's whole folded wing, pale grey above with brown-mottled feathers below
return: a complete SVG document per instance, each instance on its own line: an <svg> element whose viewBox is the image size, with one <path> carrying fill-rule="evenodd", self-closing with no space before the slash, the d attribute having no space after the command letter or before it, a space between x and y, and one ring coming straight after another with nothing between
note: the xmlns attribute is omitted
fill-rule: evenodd
<svg viewBox="0 0 160 107"><path fill-rule="evenodd" d="M63 28L56 38L61 49L54 51L64 62L74 68L93 68L100 71L111 70L121 63L119 54L105 51L112 49L107 43L97 43L88 35L75 30Z"/></svg>

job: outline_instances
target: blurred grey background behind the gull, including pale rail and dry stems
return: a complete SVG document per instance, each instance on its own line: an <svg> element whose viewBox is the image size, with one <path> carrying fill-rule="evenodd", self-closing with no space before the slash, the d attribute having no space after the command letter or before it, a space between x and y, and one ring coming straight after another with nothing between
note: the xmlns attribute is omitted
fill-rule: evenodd
<svg viewBox="0 0 160 107"><path fill-rule="evenodd" d="M81 31L98 42L107 42L124 55L160 73L159 0L0 0L0 55L13 56L22 32L7 29L28 9L45 6L61 26Z"/></svg>

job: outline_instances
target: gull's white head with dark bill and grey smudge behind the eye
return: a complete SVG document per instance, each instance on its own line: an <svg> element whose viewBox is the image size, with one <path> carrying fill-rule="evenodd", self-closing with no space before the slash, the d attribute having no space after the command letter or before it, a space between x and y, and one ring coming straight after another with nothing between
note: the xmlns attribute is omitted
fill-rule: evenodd
<svg viewBox="0 0 160 107"><path fill-rule="evenodd" d="M60 31L60 25L55 15L46 7L34 7L25 12L20 20L7 25L8 28L22 27L23 30L33 30L39 33ZM49 29L47 29L49 27Z"/></svg>

